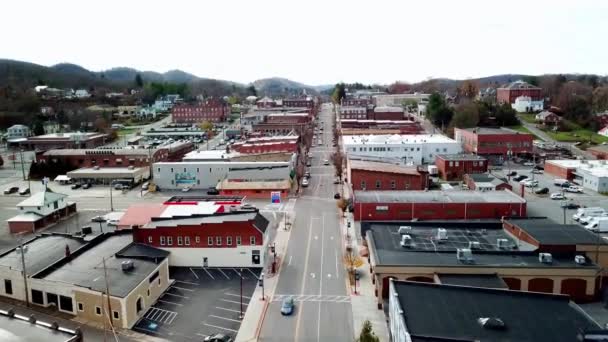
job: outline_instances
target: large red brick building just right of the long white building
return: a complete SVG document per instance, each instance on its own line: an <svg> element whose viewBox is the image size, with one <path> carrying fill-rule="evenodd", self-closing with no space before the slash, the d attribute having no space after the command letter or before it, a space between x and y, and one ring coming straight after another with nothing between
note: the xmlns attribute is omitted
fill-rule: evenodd
<svg viewBox="0 0 608 342"><path fill-rule="evenodd" d="M455 128L454 136L465 152L485 156L496 164L502 164L508 151L512 156L534 151L532 134L505 128Z"/></svg>

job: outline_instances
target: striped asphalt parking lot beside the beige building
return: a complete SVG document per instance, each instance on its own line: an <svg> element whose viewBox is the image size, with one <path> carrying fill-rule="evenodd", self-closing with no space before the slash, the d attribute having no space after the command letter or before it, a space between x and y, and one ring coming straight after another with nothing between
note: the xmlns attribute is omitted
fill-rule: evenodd
<svg viewBox="0 0 608 342"><path fill-rule="evenodd" d="M202 341L215 333L234 338L241 325L241 275L244 314L260 269L171 268L175 282L133 330L172 341Z"/></svg>

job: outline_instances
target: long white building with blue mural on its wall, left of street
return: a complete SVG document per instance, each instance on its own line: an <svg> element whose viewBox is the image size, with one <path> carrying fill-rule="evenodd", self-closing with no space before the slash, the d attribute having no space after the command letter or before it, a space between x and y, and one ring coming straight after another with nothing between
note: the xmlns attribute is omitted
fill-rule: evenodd
<svg viewBox="0 0 608 342"><path fill-rule="evenodd" d="M290 162L175 162L155 163L154 181L161 189L214 188L224 179L281 181L290 179Z"/></svg>

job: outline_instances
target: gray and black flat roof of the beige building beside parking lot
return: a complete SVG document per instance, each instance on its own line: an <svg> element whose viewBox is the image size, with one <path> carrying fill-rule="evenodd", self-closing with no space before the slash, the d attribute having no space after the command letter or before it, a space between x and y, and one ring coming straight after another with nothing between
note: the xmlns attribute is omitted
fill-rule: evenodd
<svg viewBox="0 0 608 342"><path fill-rule="evenodd" d="M105 291L102 261L105 258L108 278L111 280L110 294L115 297L125 297L146 280L167 257L164 253L155 252L151 258L150 248L154 247L142 248L140 245L131 244L132 241L130 232L103 236L99 242L92 243L84 253L54 266L56 267L54 270L41 275L41 278L74 284L94 291ZM125 260L134 260L133 271L122 271L121 263Z"/></svg>

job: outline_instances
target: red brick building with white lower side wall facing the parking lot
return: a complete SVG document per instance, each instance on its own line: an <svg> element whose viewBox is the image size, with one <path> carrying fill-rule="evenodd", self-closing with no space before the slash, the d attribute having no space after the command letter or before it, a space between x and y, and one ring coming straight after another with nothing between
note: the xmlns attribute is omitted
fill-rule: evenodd
<svg viewBox="0 0 608 342"><path fill-rule="evenodd" d="M195 205L177 204L183 214L156 217L133 229L133 242L171 252L182 267L263 267L269 222L257 210L188 215Z"/></svg>

